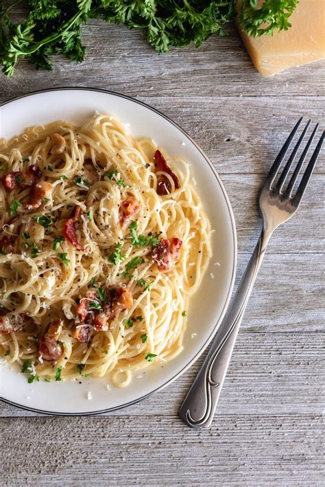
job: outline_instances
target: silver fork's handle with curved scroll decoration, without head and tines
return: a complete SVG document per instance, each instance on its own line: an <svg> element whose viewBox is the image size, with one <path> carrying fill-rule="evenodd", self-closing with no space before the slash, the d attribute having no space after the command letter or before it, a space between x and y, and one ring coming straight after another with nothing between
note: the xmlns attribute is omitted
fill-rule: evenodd
<svg viewBox="0 0 325 487"><path fill-rule="evenodd" d="M271 233L263 230L237 287L232 305L224 316L210 346L210 351L180 407L180 418L192 428L208 428L213 420L234 342L236 342L243 313L261 266L269 237L271 237Z"/></svg>

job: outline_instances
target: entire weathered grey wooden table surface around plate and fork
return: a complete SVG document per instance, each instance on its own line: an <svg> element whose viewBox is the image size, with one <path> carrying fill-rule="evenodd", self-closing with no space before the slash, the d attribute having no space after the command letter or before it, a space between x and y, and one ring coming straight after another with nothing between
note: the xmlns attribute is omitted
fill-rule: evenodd
<svg viewBox="0 0 325 487"><path fill-rule="evenodd" d="M87 59L0 75L0 103L91 86L158 108L206 151L237 223L237 281L261 226L256 195L300 115L324 128L325 64L256 73L234 29L158 56L141 32L93 21ZM5 121L2 121L5 123ZM178 408L201 360L168 388L103 416L45 417L2 403L1 485L324 485L324 156L298 215L276 231L258 275L210 429ZM323 298L323 299L322 299ZM323 432L324 433L324 432Z"/></svg>

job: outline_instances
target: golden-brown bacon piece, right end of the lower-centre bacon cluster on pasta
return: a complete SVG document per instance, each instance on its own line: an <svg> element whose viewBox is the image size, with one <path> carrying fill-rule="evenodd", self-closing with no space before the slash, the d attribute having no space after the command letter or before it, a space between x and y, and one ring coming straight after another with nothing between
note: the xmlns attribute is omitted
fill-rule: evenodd
<svg viewBox="0 0 325 487"><path fill-rule="evenodd" d="M123 309L130 309L133 305L132 292L128 287L117 287L110 290L108 302L102 311L99 311L93 321L96 330L108 331L108 326L115 316Z"/></svg>

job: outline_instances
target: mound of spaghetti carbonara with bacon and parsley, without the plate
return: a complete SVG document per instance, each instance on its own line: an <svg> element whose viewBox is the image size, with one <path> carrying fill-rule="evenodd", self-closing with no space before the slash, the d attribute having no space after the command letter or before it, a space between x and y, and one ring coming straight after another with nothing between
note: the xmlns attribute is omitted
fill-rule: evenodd
<svg viewBox="0 0 325 487"><path fill-rule="evenodd" d="M189 164L109 115L0 141L0 355L29 382L182 351L210 224Z"/></svg>

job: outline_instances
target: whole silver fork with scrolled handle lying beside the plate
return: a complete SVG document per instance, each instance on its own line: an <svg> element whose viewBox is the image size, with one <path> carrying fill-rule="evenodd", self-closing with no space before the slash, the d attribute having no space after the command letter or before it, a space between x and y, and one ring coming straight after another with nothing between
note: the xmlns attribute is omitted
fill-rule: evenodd
<svg viewBox="0 0 325 487"><path fill-rule="evenodd" d="M313 173L313 169L317 162L317 158L322 150L324 143L325 132L322 133L320 140L317 143L317 147L311 156L309 164L304 171L302 180L296 193L293 195L293 188L298 179L300 169L306 159L309 152L309 148L315 134L318 129L318 124L315 126L313 133L309 137L309 141L306 143L302 155L294 169L291 179L287 188L284 189L285 180L289 174L291 166L295 161L297 152L302 145L304 136L311 124L311 120L308 121L296 146L291 152L288 161L280 174L278 181L275 182L278 175L280 166L285 159L285 156L289 150L289 147L293 141L294 136L298 132L298 128L302 122L302 118L298 121L295 128L293 128L289 135L285 145L280 150L274 164L272 165L269 174L265 180L261 192L259 195L259 206L263 215L263 230L261 237L258 239L256 248L250 258L248 266L243 274L243 278L239 283L237 292L234 295L232 305L228 309L226 316L221 322L217 335L213 340L213 344L210 346L210 351L202 367L197 373L191 389L189 390L184 403L180 407L180 418L184 422L193 427L209 427L217 402L221 392L221 387L226 377L226 372L230 362L232 349L234 348L234 342L236 341L241 319L248 303L248 298L252 292L258 269L261 266L265 250L269 239L274 230L287 219L291 218L297 211L298 206L302 200L302 196L306 191L306 187Z"/></svg>

